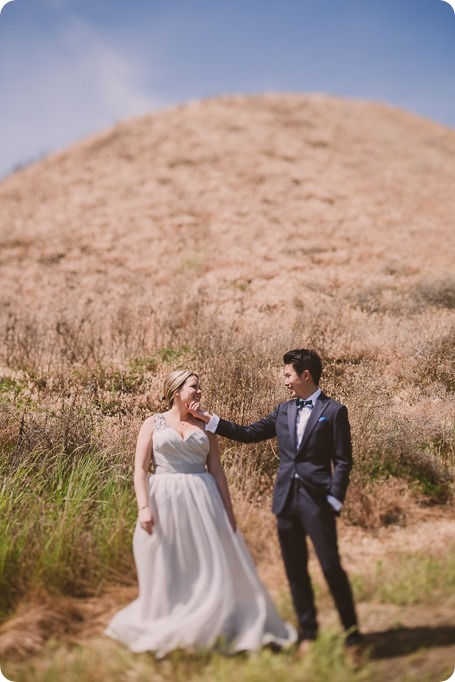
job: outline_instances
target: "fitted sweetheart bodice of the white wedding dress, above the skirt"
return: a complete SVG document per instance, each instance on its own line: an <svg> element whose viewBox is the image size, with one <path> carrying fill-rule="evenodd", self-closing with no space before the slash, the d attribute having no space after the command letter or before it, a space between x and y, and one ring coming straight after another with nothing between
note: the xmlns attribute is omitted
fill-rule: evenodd
<svg viewBox="0 0 455 682"><path fill-rule="evenodd" d="M162 414L155 415L153 460L155 473L204 473L210 451L207 434L195 429L182 438Z"/></svg>

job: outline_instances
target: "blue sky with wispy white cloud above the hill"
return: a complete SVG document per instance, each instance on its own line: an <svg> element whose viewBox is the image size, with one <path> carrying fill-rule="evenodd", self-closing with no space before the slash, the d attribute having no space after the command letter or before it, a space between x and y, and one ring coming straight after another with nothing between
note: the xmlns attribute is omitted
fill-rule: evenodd
<svg viewBox="0 0 455 682"><path fill-rule="evenodd" d="M455 127L442 0L14 0L0 14L0 177L131 116L324 92Z"/></svg>

